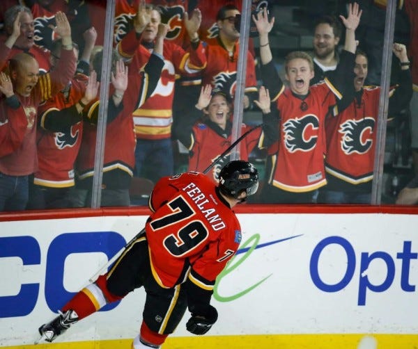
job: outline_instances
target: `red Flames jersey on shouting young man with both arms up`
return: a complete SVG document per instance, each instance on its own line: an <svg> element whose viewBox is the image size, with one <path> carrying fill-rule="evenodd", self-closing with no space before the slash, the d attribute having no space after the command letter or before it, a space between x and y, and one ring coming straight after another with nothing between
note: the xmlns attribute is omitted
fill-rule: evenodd
<svg viewBox="0 0 418 349"><path fill-rule="evenodd" d="M327 83L330 83L327 81ZM311 86L304 99L307 110L302 111L301 99L290 89L283 88L277 98L280 111L279 145L272 156L273 173L270 184L282 190L302 193L325 186L324 157L325 115L336 104L330 92L333 86L318 83Z"/></svg>

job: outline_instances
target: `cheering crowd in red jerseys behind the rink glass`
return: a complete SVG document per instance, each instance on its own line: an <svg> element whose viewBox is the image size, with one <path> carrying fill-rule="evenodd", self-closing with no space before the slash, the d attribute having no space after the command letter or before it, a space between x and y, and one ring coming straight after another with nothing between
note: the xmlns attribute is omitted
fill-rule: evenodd
<svg viewBox="0 0 418 349"><path fill-rule="evenodd" d="M0 211L91 207L98 190L147 205L161 177L215 163L217 182L231 156L261 173L250 203L373 204L378 177L379 202L417 204L417 1L396 3L390 70L387 1L318 2L253 0L240 55L241 0L1 1Z"/></svg>

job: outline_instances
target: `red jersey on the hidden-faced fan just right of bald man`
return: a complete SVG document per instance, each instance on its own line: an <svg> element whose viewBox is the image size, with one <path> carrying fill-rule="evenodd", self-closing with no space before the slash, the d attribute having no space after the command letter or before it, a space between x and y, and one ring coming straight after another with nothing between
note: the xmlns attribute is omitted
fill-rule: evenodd
<svg viewBox="0 0 418 349"><path fill-rule="evenodd" d="M82 143L83 122L68 126L66 132L52 132L45 129L45 120L51 111L75 105L86 90L84 75L72 79L69 95L59 92L39 108L40 128L38 128L38 171L33 183L38 186L65 188L74 186L74 163Z"/></svg>

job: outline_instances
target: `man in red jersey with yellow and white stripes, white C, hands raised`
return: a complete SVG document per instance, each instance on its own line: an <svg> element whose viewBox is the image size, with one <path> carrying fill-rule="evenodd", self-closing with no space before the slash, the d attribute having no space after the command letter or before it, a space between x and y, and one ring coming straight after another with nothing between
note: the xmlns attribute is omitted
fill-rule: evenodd
<svg viewBox="0 0 418 349"><path fill-rule="evenodd" d="M150 20L148 20L150 19ZM173 123L174 84L179 75L195 73L206 66L203 43L197 31L201 13L194 10L185 22L192 45L185 51L182 47L164 40L164 68L157 88L146 102L132 113L137 134L135 148L135 176L146 177L154 183L161 177L173 174L173 147L171 126ZM130 31L118 44L118 53L138 67L144 65L154 49L161 14L155 6L139 8ZM146 54L134 56L136 51L146 49Z"/></svg>

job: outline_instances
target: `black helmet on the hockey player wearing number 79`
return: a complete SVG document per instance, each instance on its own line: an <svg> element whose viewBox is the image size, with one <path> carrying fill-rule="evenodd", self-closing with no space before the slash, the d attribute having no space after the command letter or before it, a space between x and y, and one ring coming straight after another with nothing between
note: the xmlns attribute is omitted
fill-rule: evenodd
<svg viewBox="0 0 418 349"><path fill-rule="evenodd" d="M219 189L235 199L243 190L247 197L253 195L258 189L258 171L248 161L230 161L219 173Z"/></svg>

